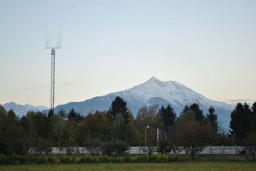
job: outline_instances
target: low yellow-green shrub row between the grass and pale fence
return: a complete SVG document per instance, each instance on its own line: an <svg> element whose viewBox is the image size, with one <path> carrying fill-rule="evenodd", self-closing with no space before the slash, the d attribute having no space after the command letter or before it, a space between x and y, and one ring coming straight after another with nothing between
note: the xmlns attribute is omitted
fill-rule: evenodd
<svg viewBox="0 0 256 171"><path fill-rule="evenodd" d="M178 161L178 155L143 155L143 156L68 156L68 155L0 155L0 164L19 165L19 164L71 164L71 163L164 163Z"/></svg>

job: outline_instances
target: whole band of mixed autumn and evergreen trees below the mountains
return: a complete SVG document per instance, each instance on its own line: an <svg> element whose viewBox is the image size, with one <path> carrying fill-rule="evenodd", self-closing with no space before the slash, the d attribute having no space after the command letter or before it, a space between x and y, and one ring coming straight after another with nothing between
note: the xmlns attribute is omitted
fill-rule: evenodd
<svg viewBox="0 0 256 171"><path fill-rule="evenodd" d="M237 144L245 144L246 139L255 136L255 112L255 102L251 108L238 103L231 113L230 134L226 135L219 130L214 108L210 106L204 115L196 103L185 105L179 116L170 104L144 106L136 118L118 96L109 110L90 112L85 117L73 108L69 112L61 108L56 114L52 110L48 115L29 111L18 118L12 109L6 111L0 105L0 153L25 155L31 148L47 153L51 147L86 146L106 150L110 144L121 147L146 143L148 153L158 145L159 152L179 153L184 149L193 157L205 146L230 144L234 135Z"/></svg>

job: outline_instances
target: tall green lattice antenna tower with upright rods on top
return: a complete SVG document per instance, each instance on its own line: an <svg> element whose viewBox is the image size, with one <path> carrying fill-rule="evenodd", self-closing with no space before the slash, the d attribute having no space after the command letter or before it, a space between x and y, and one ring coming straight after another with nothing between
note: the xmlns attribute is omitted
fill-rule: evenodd
<svg viewBox="0 0 256 171"><path fill-rule="evenodd" d="M46 49L51 49L51 110L54 114L54 84L55 84L55 49L61 48L62 34L57 33L55 46L51 44L49 33L44 31L44 44Z"/></svg>

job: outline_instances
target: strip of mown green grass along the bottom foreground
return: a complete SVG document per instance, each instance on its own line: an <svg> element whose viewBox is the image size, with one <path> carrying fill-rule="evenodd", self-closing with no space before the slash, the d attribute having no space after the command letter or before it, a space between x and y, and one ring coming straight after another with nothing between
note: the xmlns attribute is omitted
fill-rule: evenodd
<svg viewBox="0 0 256 171"><path fill-rule="evenodd" d="M106 164L46 164L3 165L0 170L256 170L255 162L189 161L182 163L106 163Z"/></svg>

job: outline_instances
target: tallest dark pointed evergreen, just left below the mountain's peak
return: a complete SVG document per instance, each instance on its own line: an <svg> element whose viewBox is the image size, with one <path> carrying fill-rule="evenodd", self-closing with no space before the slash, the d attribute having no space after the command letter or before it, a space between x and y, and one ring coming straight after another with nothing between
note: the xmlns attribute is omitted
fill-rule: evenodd
<svg viewBox="0 0 256 171"><path fill-rule="evenodd" d="M118 113L121 113L123 118L125 118L126 124L129 122L128 118L131 116L129 109L127 108L127 102L124 101L121 97L115 97L115 100L112 101L111 107L109 108L107 115L111 119L115 119Z"/></svg>

